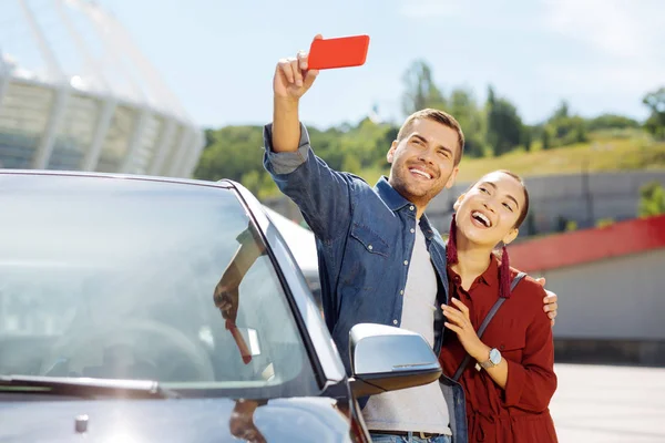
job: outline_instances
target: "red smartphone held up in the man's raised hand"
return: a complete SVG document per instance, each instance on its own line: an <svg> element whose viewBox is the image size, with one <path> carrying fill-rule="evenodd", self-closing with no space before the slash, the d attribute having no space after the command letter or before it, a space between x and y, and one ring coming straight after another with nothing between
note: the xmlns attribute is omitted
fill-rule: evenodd
<svg viewBox="0 0 665 443"><path fill-rule="evenodd" d="M308 69L325 70L360 66L367 59L369 35L314 40L309 47Z"/></svg>

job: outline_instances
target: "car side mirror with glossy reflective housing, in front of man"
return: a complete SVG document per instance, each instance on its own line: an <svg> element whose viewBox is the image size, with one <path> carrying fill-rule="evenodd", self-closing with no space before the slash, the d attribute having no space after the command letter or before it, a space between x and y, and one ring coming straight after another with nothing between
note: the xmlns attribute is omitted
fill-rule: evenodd
<svg viewBox="0 0 665 443"><path fill-rule="evenodd" d="M357 396L431 383L441 365L422 336L400 328L358 323L349 332L351 390Z"/></svg>

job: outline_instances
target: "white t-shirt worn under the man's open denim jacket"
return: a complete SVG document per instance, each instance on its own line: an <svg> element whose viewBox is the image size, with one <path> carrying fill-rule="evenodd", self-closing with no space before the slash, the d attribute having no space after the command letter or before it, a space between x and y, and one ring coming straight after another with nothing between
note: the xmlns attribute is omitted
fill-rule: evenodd
<svg viewBox="0 0 665 443"><path fill-rule="evenodd" d="M403 297L400 327L420 333L433 347L437 275L418 224ZM362 415L370 431L452 434L439 381L372 395L362 410Z"/></svg>

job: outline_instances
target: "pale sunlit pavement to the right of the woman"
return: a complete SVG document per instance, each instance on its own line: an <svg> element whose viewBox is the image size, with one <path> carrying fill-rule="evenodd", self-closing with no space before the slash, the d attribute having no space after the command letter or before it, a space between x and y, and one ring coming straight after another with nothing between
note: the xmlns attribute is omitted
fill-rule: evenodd
<svg viewBox="0 0 665 443"><path fill-rule="evenodd" d="M665 443L665 369L557 364L561 443Z"/></svg>

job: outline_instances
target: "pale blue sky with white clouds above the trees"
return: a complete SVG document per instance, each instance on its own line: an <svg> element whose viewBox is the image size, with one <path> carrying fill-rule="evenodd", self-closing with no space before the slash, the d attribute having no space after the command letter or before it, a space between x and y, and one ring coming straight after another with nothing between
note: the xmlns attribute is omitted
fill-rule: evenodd
<svg viewBox="0 0 665 443"><path fill-rule="evenodd" d="M321 72L303 99L301 119L317 126L356 122L375 104L401 120L401 78L417 59L444 91L484 101L493 84L528 123L562 99L585 116L644 119L642 96L665 85L661 0L99 2L205 126L269 121L277 60L317 32L371 38L364 66Z"/></svg>

